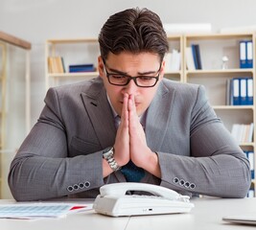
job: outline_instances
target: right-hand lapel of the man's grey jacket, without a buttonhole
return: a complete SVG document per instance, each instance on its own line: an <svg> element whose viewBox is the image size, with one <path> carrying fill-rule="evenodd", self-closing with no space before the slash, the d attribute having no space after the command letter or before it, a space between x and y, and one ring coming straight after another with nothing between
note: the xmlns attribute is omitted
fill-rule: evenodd
<svg viewBox="0 0 256 230"><path fill-rule="evenodd" d="M146 118L146 137L151 150L160 150L165 133L173 113L172 105L175 88L168 89L163 82L159 85L156 95L148 108Z"/></svg>

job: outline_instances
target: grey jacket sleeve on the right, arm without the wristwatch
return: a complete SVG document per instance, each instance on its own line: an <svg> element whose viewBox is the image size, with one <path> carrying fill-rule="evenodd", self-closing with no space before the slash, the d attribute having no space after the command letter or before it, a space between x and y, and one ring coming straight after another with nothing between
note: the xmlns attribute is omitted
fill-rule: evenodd
<svg viewBox="0 0 256 230"><path fill-rule="evenodd" d="M245 154L208 104L203 87L198 87L197 94L185 115L190 119L190 155L158 152L161 185L180 192L244 197L250 186ZM182 144L179 149L183 150Z"/></svg>

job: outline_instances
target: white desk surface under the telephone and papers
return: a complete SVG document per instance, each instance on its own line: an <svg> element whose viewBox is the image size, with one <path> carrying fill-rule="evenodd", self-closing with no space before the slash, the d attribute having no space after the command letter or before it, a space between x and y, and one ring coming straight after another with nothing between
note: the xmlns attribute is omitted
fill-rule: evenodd
<svg viewBox="0 0 256 230"><path fill-rule="evenodd" d="M69 200L70 201L70 200ZM191 200L195 208L189 214L157 215L111 218L86 211L68 215L61 219L0 219L0 227L5 230L243 230L255 229L255 226L231 224L222 221L222 217L256 213L256 198L222 199L195 198ZM12 202L0 200L0 203ZM91 201L80 200L81 203ZM76 201L77 203L77 201Z"/></svg>

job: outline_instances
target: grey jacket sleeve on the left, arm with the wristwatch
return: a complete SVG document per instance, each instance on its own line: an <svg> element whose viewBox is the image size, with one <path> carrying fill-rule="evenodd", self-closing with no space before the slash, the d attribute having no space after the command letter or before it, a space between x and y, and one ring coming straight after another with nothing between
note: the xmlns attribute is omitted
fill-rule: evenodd
<svg viewBox="0 0 256 230"><path fill-rule="evenodd" d="M9 184L17 200L67 196L104 184L102 151L69 157L60 100L54 89L48 91L38 122L12 161Z"/></svg>

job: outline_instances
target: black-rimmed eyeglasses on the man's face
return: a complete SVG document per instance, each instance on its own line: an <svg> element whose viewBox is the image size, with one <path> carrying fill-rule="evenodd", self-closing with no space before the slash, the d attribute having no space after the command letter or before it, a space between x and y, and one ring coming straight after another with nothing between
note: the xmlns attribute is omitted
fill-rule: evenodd
<svg viewBox="0 0 256 230"><path fill-rule="evenodd" d="M105 76L106 76L106 78L107 78L107 80L108 80L108 82L109 82L110 84L117 85L117 86L126 86L126 85L128 85L129 81L133 80L133 81L135 82L135 84L136 84L138 87L141 87L141 88L151 88L151 87L153 87L153 86L157 83L157 81L159 81L159 76L160 76L161 67L162 67L162 62L161 62L161 64L160 64L159 69L158 69L157 72L156 72L157 76L155 76L155 77L143 76L143 75L142 75L142 76L131 77L131 76L128 76L128 75L126 75L126 74L109 74L109 73L107 72L106 68L105 68L105 60L104 60ZM119 76L120 76L120 75L123 75L123 76L125 76L126 78L128 78L128 81L127 81L126 83L123 83L123 84L113 83L113 82L111 82L111 81L109 80L109 76L110 76L110 75L113 75L113 76L115 76L115 75L119 75ZM154 84L152 84L152 85L150 85L150 86L142 86L142 85L139 85L139 84L137 83L137 79L145 78L145 77L146 77L146 78L150 78L150 79L155 79L156 81L154 82Z"/></svg>

